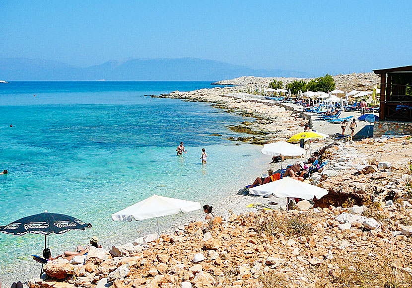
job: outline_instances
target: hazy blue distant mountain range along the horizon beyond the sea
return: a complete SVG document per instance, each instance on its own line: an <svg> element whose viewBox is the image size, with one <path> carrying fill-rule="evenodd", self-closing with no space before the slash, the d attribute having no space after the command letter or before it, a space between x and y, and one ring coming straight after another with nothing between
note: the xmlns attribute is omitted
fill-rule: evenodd
<svg viewBox="0 0 412 288"><path fill-rule="evenodd" d="M288 70L255 70L196 58L114 60L86 68L42 59L0 59L0 80L6 81L217 81L240 76L307 78L313 75Z"/></svg>

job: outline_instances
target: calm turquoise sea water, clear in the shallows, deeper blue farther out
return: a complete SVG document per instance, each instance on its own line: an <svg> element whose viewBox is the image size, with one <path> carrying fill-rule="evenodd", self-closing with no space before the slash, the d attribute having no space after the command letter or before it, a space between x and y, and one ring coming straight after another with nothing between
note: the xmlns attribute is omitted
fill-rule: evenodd
<svg viewBox="0 0 412 288"><path fill-rule="evenodd" d="M92 235L104 246L139 236L131 227L153 228L152 221L110 217L153 194L203 205L246 185L268 159L260 147L226 138L233 136L229 125L250 119L206 103L143 96L205 87L210 82L0 83L0 170L9 171L0 175L0 225L44 210L93 224L52 235L57 255ZM180 141L188 152L176 156ZM29 256L43 245L40 235L0 233L0 278L16 265L33 265Z"/></svg>

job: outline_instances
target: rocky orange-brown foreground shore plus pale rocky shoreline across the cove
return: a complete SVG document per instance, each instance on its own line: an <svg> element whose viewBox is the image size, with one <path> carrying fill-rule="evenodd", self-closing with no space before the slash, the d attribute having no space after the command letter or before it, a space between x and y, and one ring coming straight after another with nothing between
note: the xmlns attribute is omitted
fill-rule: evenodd
<svg viewBox="0 0 412 288"><path fill-rule="evenodd" d="M242 97L253 84L240 85L157 97L204 101L255 117L254 122L232 128L254 144L285 140L311 121L289 106ZM304 201L288 212L244 209L109 251L92 249L72 263L49 262L45 276L30 280L28 286L411 287L411 140L322 142L318 147L326 144L330 145L323 157L328 165L311 180L329 195L314 205Z"/></svg>

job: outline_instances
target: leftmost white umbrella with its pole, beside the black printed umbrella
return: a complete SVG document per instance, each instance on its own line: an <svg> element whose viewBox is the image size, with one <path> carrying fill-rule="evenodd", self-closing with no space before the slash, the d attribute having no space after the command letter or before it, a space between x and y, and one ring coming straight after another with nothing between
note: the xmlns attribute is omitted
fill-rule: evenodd
<svg viewBox="0 0 412 288"><path fill-rule="evenodd" d="M136 204L112 214L113 221L132 221L156 218L160 235L159 217L187 213L201 209L199 202L153 195Z"/></svg>

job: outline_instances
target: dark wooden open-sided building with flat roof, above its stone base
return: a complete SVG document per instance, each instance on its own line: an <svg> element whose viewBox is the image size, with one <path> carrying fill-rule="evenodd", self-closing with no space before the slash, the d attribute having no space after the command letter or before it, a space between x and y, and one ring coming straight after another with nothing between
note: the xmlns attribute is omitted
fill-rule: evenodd
<svg viewBox="0 0 412 288"><path fill-rule="evenodd" d="M412 66L373 72L381 75L379 121L412 122Z"/></svg>

